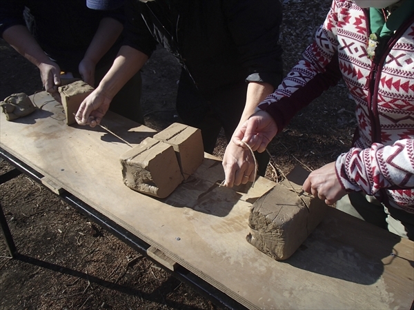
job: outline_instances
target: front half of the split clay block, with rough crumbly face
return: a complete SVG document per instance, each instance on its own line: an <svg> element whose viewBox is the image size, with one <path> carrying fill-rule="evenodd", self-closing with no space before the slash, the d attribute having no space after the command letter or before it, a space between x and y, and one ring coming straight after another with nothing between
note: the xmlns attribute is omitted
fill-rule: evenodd
<svg viewBox="0 0 414 310"><path fill-rule="evenodd" d="M154 138L129 149L120 161L125 185L151 196L166 198L184 179L173 147Z"/></svg>

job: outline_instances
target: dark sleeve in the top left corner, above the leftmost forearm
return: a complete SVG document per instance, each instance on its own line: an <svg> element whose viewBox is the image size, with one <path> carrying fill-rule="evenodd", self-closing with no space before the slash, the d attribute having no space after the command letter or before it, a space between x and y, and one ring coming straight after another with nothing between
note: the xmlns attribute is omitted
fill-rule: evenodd
<svg viewBox="0 0 414 310"><path fill-rule="evenodd" d="M20 0L0 1L0 34L13 25L26 25L23 19L24 2Z"/></svg>

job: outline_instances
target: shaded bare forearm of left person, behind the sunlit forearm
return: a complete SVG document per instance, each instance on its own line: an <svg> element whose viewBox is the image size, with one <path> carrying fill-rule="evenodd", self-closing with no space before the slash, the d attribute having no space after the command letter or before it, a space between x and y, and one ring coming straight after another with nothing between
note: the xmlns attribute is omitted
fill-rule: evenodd
<svg viewBox="0 0 414 310"><path fill-rule="evenodd" d="M84 58L90 59L96 65L117 41L123 29L124 26L115 19L110 17L102 19L88 50L86 50Z"/></svg>

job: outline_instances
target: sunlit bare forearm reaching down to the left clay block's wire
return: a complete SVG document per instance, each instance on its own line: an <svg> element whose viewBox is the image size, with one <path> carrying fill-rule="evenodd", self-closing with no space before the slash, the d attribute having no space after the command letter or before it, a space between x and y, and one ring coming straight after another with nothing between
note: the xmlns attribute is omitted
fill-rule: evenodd
<svg viewBox="0 0 414 310"><path fill-rule="evenodd" d="M143 52L127 45L122 46L112 67L99 83L97 90L101 90L105 96L112 100L147 60L148 56Z"/></svg>

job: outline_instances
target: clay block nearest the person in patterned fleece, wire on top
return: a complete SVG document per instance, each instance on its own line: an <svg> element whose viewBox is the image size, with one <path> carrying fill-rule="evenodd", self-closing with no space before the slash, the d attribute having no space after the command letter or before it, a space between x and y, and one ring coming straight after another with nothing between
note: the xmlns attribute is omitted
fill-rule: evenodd
<svg viewBox="0 0 414 310"><path fill-rule="evenodd" d="M290 182L278 183L250 209L246 240L275 260L286 260L295 253L326 214L324 201L302 189L308 174L295 167L287 176Z"/></svg>

